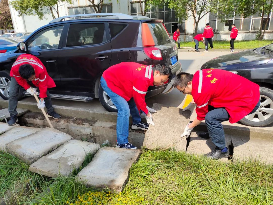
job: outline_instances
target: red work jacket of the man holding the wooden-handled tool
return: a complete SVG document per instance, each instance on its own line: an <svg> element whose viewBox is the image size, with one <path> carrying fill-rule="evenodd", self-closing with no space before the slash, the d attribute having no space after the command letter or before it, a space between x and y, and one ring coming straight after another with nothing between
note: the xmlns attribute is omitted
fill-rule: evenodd
<svg viewBox="0 0 273 205"><path fill-rule="evenodd" d="M56 87L56 85L53 79L48 75L46 67L43 65L40 59L38 59L34 55L31 54L20 55L11 66L10 76L14 77L17 83L20 86L22 86L25 90L29 89L30 85L19 74L19 68L21 65L24 64L30 64L34 68L36 78L32 80L32 83L34 84L34 86L39 88L40 97L46 98L47 89L51 87Z"/></svg>

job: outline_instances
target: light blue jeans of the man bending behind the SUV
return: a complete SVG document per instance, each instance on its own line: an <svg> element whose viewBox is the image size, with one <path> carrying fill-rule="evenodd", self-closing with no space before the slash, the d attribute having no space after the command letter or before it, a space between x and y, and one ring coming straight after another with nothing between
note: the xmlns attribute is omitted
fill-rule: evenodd
<svg viewBox="0 0 273 205"><path fill-rule="evenodd" d="M117 119L117 143L126 144L129 136L129 117L133 118L133 124L141 122L140 113L136 107L135 101L131 98L128 102L121 96L114 93L108 86L103 77L100 78L100 84L103 90L111 98L118 109Z"/></svg>

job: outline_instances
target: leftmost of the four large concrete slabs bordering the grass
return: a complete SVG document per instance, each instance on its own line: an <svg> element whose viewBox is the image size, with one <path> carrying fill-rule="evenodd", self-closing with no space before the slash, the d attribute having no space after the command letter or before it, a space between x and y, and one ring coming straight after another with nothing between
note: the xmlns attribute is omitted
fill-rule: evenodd
<svg viewBox="0 0 273 205"><path fill-rule="evenodd" d="M34 127L11 126L10 130L0 135L0 150L6 151L6 144L21 137L33 134L40 129Z"/></svg>

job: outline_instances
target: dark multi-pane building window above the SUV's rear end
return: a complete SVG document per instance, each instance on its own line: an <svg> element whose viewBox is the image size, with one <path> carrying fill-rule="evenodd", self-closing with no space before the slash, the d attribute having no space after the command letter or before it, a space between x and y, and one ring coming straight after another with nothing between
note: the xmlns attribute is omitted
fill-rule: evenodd
<svg viewBox="0 0 273 205"><path fill-rule="evenodd" d="M142 10L145 8L144 3L141 3ZM139 2L131 3L131 15L141 16L141 9ZM168 8L168 4L165 3L164 6L151 6L149 10L146 11L146 15L149 18L162 19L168 33L172 34L177 28L180 29L180 33L185 33L185 19L178 19L175 15L175 10Z"/></svg>

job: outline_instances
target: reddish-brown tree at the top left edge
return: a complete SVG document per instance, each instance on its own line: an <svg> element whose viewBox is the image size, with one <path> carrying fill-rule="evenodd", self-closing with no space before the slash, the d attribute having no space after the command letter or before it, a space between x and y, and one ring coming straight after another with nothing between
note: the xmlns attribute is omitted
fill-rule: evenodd
<svg viewBox="0 0 273 205"><path fill-rule="evenodd" d="M7 29L13 29L8 0L0 0L0 28L5 32Z"/></svg>

